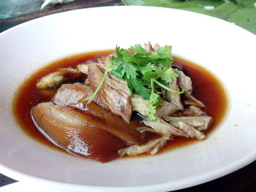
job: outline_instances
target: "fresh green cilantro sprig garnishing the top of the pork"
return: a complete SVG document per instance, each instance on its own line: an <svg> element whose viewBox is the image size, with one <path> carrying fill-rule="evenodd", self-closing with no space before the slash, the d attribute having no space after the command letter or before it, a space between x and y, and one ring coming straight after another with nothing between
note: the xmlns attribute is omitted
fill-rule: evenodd
<svg viewBox="0 0 256 192"><path fill-rule="evenodd" d="M129 50L116 47L116 55L112 56L110 62L112 65L108 64L107 68L110 69L106 69L106 72L110 71L110 74L126 81L132 96L137 93L149 100L148 119L151 121L157 120L155 117L157 107L163 103L161 93L157 91L158 88L178 94L184 93L184 89L175 91L166 86L178 77L178 74L170 67L173 63L171 46L165 45L154 52L147 51L138 44L129 47ZM106 72L101 80L102 83ZM99 84L89 102L97 94L102 83Z"/></svg>

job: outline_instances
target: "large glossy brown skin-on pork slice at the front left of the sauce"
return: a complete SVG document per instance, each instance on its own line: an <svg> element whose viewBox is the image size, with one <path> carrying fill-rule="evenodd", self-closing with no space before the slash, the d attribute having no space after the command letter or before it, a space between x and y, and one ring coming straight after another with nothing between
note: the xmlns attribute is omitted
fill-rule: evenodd
<svg viewBox="0 0 256 192"><path fill-rule="evenodd" d="M45 102L34 107L31 115L50 142L83 158L107 162L117 158L118 150L126 145L122 139L104 130L100 120L72 107Z"/></svg>

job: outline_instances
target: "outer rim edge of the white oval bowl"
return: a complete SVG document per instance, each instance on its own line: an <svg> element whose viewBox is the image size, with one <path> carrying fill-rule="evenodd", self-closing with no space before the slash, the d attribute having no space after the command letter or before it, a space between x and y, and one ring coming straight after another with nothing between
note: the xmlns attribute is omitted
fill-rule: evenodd
<svg viewBox="0 0 256 192"><path fill-rule="evenodd" d="M0 33L0 39L4 37L5 34L8 34L12 31L15 31L16 28L23 28L23 26L30 25L31 23L39 22L40 20L44 20L46 17L56 17L56 15L62 15L67 14L67 12L77 12L77 11L84 11L88 9L132 9L133 7L138 7L139 9L163 9L163 10L174 10L178 12L189 12L186 10L181 9L172 9L172 8L166 8L166 7L141 7L141 6L110 6L110 7L90 7L90 8L83 8L83 9L74 9L69 10L66 12L59 12L55 13L53 15L47 15L41 18L36 18L34 20L29 20L25 23L21 23L18 26L14 26L12 28L7 29L6 31L3 31ZM189 12L189 14L195 14L195 15L203 15L200 13L195 12ZM209 15L203 15L203 17L208 18L214 18ZM232 23L228 23L225 20L214 18L216 20L219 20L220 22L224 22L228 25L233 25ZM237 28L240 28L244 31L246 29L241 28L239 26L236 26ZM250 31L246 31L248 34L252 34ZM253 34L254 35L254 34ZM256 37L256 36L255 36ZM72 188L72 190L80 191L80 190L89 190L89 191L165 191L165 190L177 190L181 188L188 188L193 185L198 185L201 183L206 183L208 181L217 179L219 177L225 176L226 174L230 174L231 172L235 172L238 169L241 169L242 167L252 163L256 160L256 150L252 153L249 153L249 155L246 155L244 158L239 159L238 161L234 161L233 164L229 164L228 166L223 166L220 169L216 169L211 172L207 172L206 174L200 174L194 178L184 179L181 181L178 181L176 183L161 183L157 185L142 185L142 186L136 186L136 187L105 187L105 186L94 186L94 185L78 185L78 184L71 184L71 183L62 183L58 181L53 180L46 180L39 177L34 177L29 174L23 174L22 172L15 171L14 169L11 169L7 166L0 164L0 171L1 173L7 175L8 177L12 177L15 180L19 180L20 182L24 183L30 183L31 180L34 181L34 183L37 183L38 185L47 185L48 187L54 188L56 185L62 185L63 188Z"/></svg>

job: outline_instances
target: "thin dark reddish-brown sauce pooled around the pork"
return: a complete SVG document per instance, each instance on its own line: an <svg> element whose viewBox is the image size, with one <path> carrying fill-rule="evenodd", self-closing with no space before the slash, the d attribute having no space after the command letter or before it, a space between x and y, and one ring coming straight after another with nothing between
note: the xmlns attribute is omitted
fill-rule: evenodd
<svg viewBox="0 0 256 192"><path fill-rule="evenodd" d="M51 97L55 93L53 90L45 91L45 93L42 94L42 91L38 91L35 86L37 81L46 74L54 72L56 69L70 66L75 68L77 64L89 60L95 60L102 56L109 55L110 53L113 53L113 50L72 55L66 58L61 58L58 61L54 61L53 63L48 64L42 69L39 69L37 72L31 74L31 76L20 85L12 102L13 115L18 123L18 126L23 130L23 132L29 135L29 137L37 140L37 142L48 145L49 147L53 147L57 150L61 150L59 147L56 147L48 139L46 139L37 130L33 121L31 120L31 108L41 102L50 101ZM193 95L200 101L203 101L207 107L206 112L208 116L211 116L214 119L214 123L212 124L211 128L209 128L209 130L206 132L206 135L208 136L211 131L214 130L214 128L219 126L222 119L225 117L225 113L227 112L228 101L225 89L217 77L214 77L211 72L208 72L206 69L203 69L203 67L198 66L197 64L174 57L173 65L182 66L187 70L187 72L189 72L193 82ZM161 152L173 150L197 141L197 139L176 137L173 141L168 141Z"/></svg>

